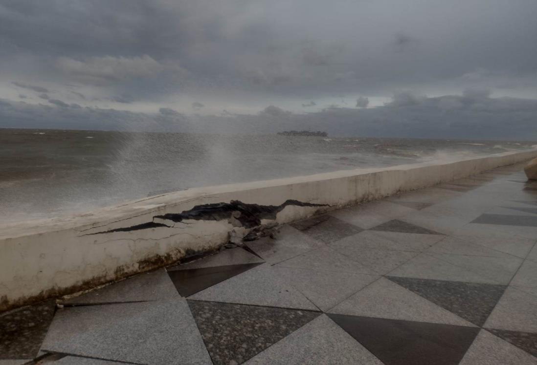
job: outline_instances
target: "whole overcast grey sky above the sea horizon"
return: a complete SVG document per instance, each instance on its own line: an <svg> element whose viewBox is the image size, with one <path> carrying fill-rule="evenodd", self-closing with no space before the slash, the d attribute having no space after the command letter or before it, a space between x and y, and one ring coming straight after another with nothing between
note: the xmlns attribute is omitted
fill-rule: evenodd
<svg viewBox="0 0 537 365"><path fill-rule="evenodd" d="M536 15L535 0L7 0L0 127L537 139Z"/></svg>

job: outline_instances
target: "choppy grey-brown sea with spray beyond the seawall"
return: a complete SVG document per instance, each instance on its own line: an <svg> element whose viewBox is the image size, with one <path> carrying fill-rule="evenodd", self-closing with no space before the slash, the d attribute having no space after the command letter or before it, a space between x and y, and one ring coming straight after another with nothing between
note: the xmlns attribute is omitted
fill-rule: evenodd
<svg viewBox="0 0 537 365"><path fill-rule="evenodd" d="M192 187L490 155L535 142L0 129L0 219Z"/></svg>

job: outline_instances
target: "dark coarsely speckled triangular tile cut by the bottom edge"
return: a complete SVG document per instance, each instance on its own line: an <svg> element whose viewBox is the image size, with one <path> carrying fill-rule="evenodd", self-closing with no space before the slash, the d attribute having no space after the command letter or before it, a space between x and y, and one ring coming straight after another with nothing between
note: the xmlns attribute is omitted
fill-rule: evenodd
<svg viewBox="0 0 537 365"><path fill-rule="evenodd" d="M214 364L240 364L310 322L321 312L188 301Z"/></svg>

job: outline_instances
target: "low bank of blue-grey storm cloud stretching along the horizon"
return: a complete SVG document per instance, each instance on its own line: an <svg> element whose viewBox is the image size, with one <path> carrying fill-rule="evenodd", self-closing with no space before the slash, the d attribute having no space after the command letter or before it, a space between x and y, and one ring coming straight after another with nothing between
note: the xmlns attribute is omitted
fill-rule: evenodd
<svg viewBox="0 0 537 365"><path fill-rule="evenodd" d="M52 102L52 100L50 100ZM0 100L7 127L139 130L182 133L267 134L324 130L331 136L537 140L537 100L481 94L413 96L400 93L383 106L329 107L293 113L270 105L257 114L191 115L161 107L158 113L31 105Z"/></svg>

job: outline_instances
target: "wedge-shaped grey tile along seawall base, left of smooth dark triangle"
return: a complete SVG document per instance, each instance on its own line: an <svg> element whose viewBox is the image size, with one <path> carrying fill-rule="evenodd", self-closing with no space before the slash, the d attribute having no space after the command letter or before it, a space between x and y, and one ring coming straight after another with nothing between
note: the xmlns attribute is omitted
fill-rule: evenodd
<svg viewBox="0 0 537 365"><path fill-rule="evenodd" d="M119 303L164 300L176 296L177 291L165 269L158 269L61 302L63 304Z"/></svg>

